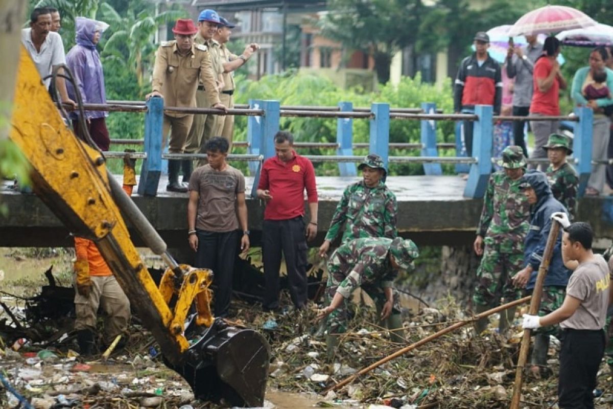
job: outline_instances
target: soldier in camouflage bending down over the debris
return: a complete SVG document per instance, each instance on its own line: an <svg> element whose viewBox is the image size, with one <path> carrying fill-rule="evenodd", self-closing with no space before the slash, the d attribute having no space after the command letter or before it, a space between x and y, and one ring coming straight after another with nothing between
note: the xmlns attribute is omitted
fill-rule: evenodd
<svg viewBox="0 0 613 409"><path fill-rule="evenodd" d="M381 319L400 313L398 297L393 296L392 283L398 269L413 269L419 256L417 246L402 237L351 240L337 248L328 261L326 286L327 307L318 319L326 318L328 356L332 357L337 335L346 331L349 319L348 298L361 287L375 301Z"/></svg>

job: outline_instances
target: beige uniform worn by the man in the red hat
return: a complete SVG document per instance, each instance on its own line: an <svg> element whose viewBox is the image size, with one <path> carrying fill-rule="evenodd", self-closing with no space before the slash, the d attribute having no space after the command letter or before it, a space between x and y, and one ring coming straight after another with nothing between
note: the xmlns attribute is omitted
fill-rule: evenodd
<svg viewBox="0 0 613 409"><path fill-rule="evenodd" d="M165 41L156 52L151 89L164 96L167 107L196 107L198 80L208 88L209 107L218 104L211 58L204 45L194 44L186 55L180 55L175 40ZM170 133L169 152L183 153L193 114L164 112L163 143Z"/></svg>

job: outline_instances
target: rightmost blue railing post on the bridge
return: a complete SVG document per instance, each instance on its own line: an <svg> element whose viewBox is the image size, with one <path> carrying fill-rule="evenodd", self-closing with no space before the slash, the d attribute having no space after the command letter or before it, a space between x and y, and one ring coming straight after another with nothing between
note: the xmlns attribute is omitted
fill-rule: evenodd
<svg viewBox="0 0 613 409"><path fill-rule="evenodd" d="M579 190L577 196L582 197L587 187L587 181L592 174L592 127L593 111L587 107L577 107L574 109L579 117L579 122L575 124L573 140L573 156L577 160L575 169L579 174Z"/></svg>

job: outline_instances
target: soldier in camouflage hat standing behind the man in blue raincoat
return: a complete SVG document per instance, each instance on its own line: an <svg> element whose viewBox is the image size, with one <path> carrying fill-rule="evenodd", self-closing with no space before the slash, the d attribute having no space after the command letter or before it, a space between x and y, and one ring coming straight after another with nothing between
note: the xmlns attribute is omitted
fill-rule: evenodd
<svg viewBox="0 0 613 409"><path fill-rule="evenodd" d="M570 139L560 134L551 134L543 149L549 158L549 167L545 172L549 186L555 199L568 210L568 218L572 222L577 209L579 177L573 166L566 162L566 155L573 153Z"/></svg>

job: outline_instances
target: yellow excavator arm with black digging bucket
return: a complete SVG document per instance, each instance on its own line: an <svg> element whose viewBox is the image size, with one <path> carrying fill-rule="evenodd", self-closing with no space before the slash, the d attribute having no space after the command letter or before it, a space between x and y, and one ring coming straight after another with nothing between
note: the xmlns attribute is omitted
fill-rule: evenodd
<svg viewBox="0 0 613 409"><path fill-rule="evenodd" d="M172 259L166 244L107 172L104 155L67 128L23 46L10 138L31 164L34 193L74 235L96 242L165 361L188 380L196 397L261 406L270 356L266 341L255 331L213 318L213 272ZM169 266L159 286L134 247L122 213ZM190 346L185 322L192 305L197 310L192 322L204 332Z"/></svg>

